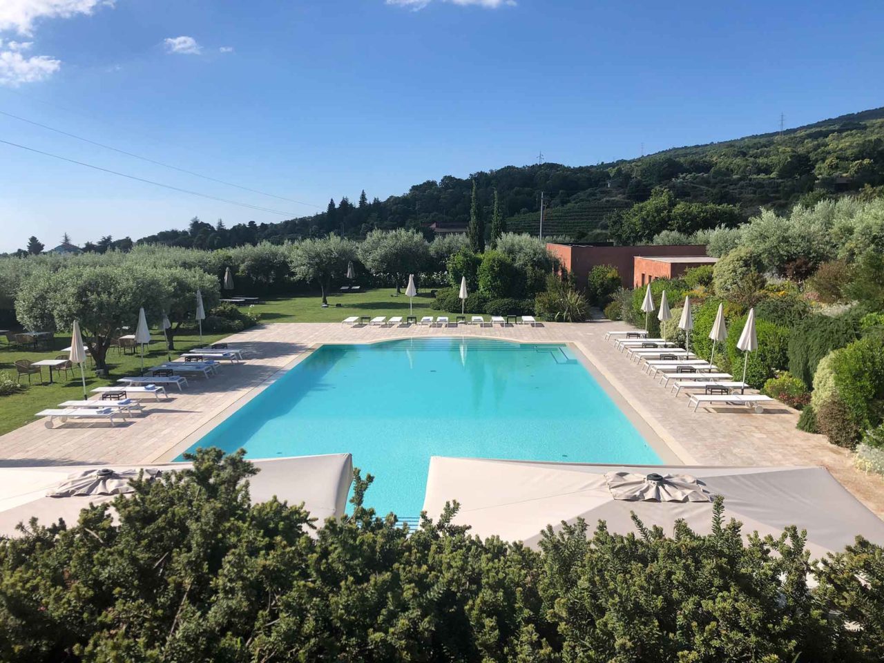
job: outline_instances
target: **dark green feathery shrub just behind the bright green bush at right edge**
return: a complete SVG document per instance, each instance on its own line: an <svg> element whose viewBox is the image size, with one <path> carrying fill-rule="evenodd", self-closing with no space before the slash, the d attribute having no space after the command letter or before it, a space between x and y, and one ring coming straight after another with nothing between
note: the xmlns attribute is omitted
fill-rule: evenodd
<svg viewBox="0 0 884 663"><path fill-rule="evenodd" d="M820 360L833 350L859 338L859 320L849 312L842 316L814 315L791 328L789 338L789 373L813 385L813 375Z"/></svg>

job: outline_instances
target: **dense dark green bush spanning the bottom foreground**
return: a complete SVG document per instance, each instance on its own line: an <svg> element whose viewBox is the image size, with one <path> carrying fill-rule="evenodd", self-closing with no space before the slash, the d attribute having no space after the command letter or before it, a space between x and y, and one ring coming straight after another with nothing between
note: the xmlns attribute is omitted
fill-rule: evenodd
<svg viewBox="0 0 884 663"><path fill-rule="evenodd" d="M135 482L79 523L0 542L5 661L880 660L884 552L862 539L821 564L794 529L629 536L576 522L540 550L438 522L404 530L363 506L316 523L252 506L241 453ZM808 579L815 586L809 586Z"/></svg>

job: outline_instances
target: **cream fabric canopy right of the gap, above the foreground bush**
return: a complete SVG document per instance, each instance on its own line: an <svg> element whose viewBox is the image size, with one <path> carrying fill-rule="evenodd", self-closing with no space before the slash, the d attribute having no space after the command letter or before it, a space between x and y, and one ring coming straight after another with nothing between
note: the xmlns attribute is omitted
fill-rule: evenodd
<svg viewBox="0 0 884 663"><path fill-rule="evenodd" d="M480 537L497 535L534 547L547 524L560 530L562 521L578 518L591 530L604 520L612 532L635 532L631 512L648 527L659 525L669 534L680 518L699 533L711 531L712 499L614 499L610 484L618 472L690 476L699 482L690 499L699 499L702 492L710 498L720 494L725 517L743 522L743 534L778 536L786 526L796 525L807 530L814 557L842 550L857 534L884 545L884 522L823 468L680 468L433 456L423 510L435 519L446 501L456 499L461 508L454 524L469 525Z"/></svg>

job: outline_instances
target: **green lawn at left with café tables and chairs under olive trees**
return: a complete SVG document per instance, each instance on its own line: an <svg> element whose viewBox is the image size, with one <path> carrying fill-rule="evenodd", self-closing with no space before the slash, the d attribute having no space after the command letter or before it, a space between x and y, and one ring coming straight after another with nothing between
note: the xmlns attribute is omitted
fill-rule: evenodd
<svg viewBox="0 0 884 663"><path fill-rule="evenodd" d="M165 352L165 344L162 334L156 330L153 332L156 342L152 343L149 352L144 354L144 366L154 366L158 363L167 361ZM212 343L217 339L227 336L227 334L203 334L202 339L205 343ZM176 352L171 354L175 359L179 353L199 346L200 337L194 336L176 336L175 348ZM32 362L39 362L42 359L55 359L62 356L59 352L61 348L71 345L70 334L56 334L51 341L51 349L41 349L38 352L27 352L21 349L9 349L6 346L0 346L0 372L6 372L15 379L15 361L18 359L29 359ZM138 375L141 370L141 355L136 354L117 354L115 349L108 351L108 368L110 369L110 378L95 377L92 370L92 362L89 361L86 366L86 389L87 392L97 386L116 385L118 377L127 375ZM55 374L55 371L53 371ZM83 397L83 384L80 381L80 369L75 367L75 372L68 372L67 377L64 373L55 375L55 383L50 385L49 369L43 367L43 384L39 384L40 376L31 376L32 385L28 386L24 391L15 393L11 396L0 396L0 435L13 431L26 423L34 421L34 413L46 408L55 408L58 403L65 400L76 400ZM27 385L27 376L21 376L21 382ZM90 392L89 396L93 394Z"/></svg>

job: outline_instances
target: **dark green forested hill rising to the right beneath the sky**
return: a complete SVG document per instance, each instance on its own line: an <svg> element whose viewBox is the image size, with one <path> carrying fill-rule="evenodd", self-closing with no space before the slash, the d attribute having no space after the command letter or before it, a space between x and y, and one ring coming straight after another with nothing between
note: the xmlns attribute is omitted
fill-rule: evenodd
<svg viewBox="0 0 884 663"><path fill-rule="evenodd" d="M625 210L636 202L647 205L656 187L667 190L663 204L672 207L684 202L690 207L693 225L714 223L719 217L733 223L761 206L785 210L796 202L816 202L864 189L868 194L880 194L881 189L874 187L884 187L884 108L822 120L781 134L667 149L611 164L507 166L471 177L476 179L488 216L493 192L498 191L509 231L537 232L541 191L548 205L545 235L607 239L613 230L608 226L621 223ZM408 194L385 201L370 201L364 193L356 202L342 198L312 217L230 228L194 219L187 230L160 232L140 241L222 248L342 230L351 237L364 236L374 228L397 227L431 234L433 224L448 229L466 227L471 189L470 178L446 175L416 184ZM658 196L661 193L658 190ZM651 202L655 200L658 197ZM639 218L638 225L641 223Z"/></svg>

